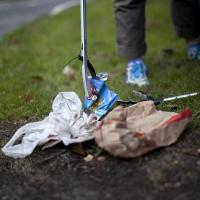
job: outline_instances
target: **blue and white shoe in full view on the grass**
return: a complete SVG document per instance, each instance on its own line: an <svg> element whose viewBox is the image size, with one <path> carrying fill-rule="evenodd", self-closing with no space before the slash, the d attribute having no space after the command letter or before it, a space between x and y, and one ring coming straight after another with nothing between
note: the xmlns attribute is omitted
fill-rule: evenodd
<svg viewBox="0 0 200 200"><path fill-rule="evenodd" d="M126 83L138 85L139 87L149 84L147 79L147 67L143 60L136 59L128 62Z"/></svg>

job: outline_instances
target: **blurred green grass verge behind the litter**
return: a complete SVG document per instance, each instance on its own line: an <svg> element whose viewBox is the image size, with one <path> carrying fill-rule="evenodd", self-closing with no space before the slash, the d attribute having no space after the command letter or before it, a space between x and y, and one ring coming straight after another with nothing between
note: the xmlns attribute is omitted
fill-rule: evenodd
<svg viewBox="0 0 200 200"><path fill-rule="evenodd" d="M147 4L147 43L145 62L149 67L150 87L142 90L156 97L200 91L200 65L186 57L185 43L175 37L168 0ZM115 22L111 0L88 4L88 48L97 71L110 74L108 85L121 98L133 98L125 83L126 61L115 55ZM174 53L167 55L165 48ZM56 17L45 17L0 39L0 121L37 120L51 110L60 91L76 91L83 97L81 63L70 66L76 79L68 80L63 65L80 50L79 7ZM137 88L136 88L137 89ZM178 111L189 106L198 125L200 97L160 106Z"/></svg>

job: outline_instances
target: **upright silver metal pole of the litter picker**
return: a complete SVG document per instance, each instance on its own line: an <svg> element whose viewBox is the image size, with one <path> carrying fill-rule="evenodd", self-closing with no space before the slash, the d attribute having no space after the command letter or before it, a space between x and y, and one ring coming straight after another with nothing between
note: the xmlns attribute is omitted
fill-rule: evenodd
<svg viewBox="0 0 200 200"><path fill-rule="evenodd" d="M83 78L85 95L88 96L86 0L80 0L80 5L81 5L81 54L83 56L82 78Z"/></svg>

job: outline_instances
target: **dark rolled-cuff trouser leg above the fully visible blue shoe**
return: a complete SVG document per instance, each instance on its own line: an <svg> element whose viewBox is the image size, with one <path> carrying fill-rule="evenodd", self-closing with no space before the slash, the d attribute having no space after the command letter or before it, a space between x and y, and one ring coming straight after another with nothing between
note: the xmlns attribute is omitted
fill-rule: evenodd
<svg viewBox="0 0 200 200"><path fill-rule="evenodd" d="M114 0L117 53L127 59L142 57L145 43L146 0Z"/></svg>

